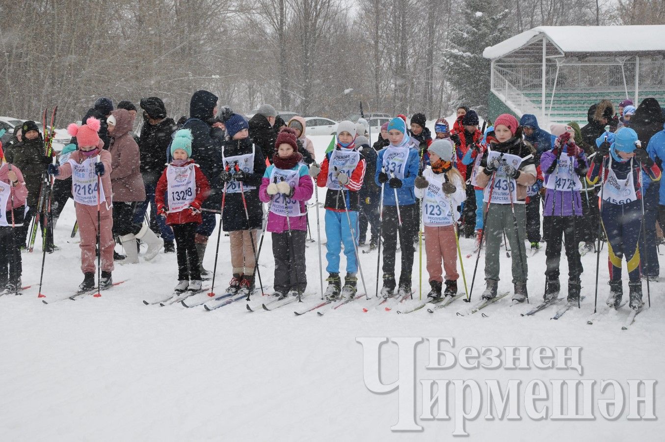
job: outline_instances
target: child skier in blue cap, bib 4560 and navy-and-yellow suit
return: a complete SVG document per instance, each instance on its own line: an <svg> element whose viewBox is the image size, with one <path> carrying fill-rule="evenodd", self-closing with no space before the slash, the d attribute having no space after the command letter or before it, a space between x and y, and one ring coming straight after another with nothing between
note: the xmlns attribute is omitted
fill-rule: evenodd
<svg viewBox="0 0 665 442"><path fill-rule="evenodd" d="M640 251L638 238L642 224L642 179L660 180L658 165L644 148L636 148L637 133L622 127L614 142L602 142L587 172L589 183L595 184L602 175L600 188L600 220L607 236L610 258L610 296L607 305L618 308L623 296L621 284L622 259L628 267L630 308L639 310L642 302Z"/></svg>

